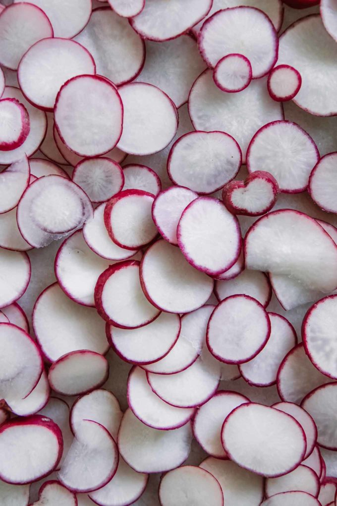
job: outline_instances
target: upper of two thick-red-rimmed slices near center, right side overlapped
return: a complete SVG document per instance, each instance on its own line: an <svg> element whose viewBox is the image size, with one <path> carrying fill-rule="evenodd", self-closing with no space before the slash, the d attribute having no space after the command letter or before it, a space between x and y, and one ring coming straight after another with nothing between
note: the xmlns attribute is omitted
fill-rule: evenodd
<svg viewBox="0 0 337 506"><path fill-rule="evenodd" d="M151 209L155 196L142 190L121 191L106 204L104 223L121 248L140 249L158 234Z"/></svg>

